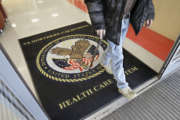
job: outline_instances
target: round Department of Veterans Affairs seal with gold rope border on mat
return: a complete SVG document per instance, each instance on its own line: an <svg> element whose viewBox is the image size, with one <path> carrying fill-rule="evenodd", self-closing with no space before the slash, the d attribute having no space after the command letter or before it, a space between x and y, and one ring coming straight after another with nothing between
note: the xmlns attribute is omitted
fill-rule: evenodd
<svg viewBox="0 0 180 120"><path fill-rule="evenodd" d="M38 53L36 66L45 77L60 82L80 82L104 72L99 64L107 43L91 35L60 37L46 44ZM93 61L93 66L90 64Z"/></svg>

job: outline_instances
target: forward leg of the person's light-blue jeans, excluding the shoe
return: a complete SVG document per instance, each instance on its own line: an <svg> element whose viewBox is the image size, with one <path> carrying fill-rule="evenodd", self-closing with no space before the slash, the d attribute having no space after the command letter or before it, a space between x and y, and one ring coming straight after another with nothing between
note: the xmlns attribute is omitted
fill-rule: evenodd
<svg viewBox="0 0 180 120"><path fill-rule="evenodd" d="M124 68L123 68L123 41L126 37L126 33L128 31L129 27L129 19L123 19L122 20L122 26L121 26L121 37L120 37L120 45L115 45L112 49L112 65L111 69L114 75L114 78L117 81L117 87L120 89L128 87L128 83L126 82L125 74L124 74ZM113 44L113 43L112 43Z"/></svg>

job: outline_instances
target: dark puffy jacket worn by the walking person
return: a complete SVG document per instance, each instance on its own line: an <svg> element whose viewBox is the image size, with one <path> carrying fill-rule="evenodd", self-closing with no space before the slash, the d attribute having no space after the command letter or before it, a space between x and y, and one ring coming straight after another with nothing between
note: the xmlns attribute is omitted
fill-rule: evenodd
<svg viewBox="0 0 180 120"><path fill-rule="evenodd" d="M94 28L106 29L105 39L119 44L121 20L126 0L85 0L85 3ZM148 19L154 19L152 0L137 0L130 17L130 23L136 35Z"/></svg>

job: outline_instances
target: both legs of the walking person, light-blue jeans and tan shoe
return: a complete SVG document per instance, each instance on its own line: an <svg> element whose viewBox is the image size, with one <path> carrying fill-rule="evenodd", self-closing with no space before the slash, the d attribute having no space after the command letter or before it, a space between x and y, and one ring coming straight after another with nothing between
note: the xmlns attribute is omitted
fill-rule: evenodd
<svg viewBox="0 0 180 120"><path fill-rule="evenodd" d="M126 37L126 33L128 31L129 27L129 19L123 19L122 20L122 27L121 27L121 37L120 37L120 45L116 45L111 41L108 41L109 46L102 57L101 64L108 65L111 62L111 69L112 73L114 75L114 78L117 81L117 87L118 91L127 97L128 99L132 99L136 96L136 93L129 88L128 83L126 82L126 77L124 74L124 68L123 68L123 41ZM106 71L109 71L106 68Z"/></svg>

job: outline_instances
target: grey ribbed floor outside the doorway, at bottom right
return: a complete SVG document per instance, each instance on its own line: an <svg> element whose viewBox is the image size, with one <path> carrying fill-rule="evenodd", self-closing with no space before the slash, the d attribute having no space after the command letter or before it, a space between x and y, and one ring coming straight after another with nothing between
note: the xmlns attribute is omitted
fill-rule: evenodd
<svg viewBox="0 0 180 120"><path fill-rule="evenodd" d="M179 120L180 69L103 120Z"/></svg>

